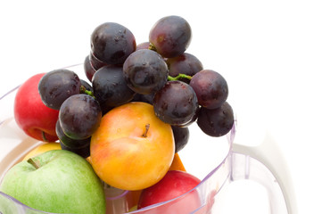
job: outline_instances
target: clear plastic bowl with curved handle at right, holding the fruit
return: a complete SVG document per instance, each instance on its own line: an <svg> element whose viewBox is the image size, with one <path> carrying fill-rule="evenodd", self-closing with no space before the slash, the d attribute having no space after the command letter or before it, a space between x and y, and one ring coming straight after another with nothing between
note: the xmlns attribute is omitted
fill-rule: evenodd
<svg viewBox="0 0 322 214"><path fill-rule="evenodd" d="M77 73L84 73L83 65L69 67ZM17 91L12 89L0 98L2 108L0 119L0 182L5 172L39 144L35 139L26 136L17 127L13 119L13 100ZM253 148L235 146L235 126L227 136L210 137L202 133L195 125L190 128L189 143L179 152L187 172L202 179L190 192L180 195L168 202L161 202L141 210L128 210L133 204L132 192L111 189L106 194L106 213L178 213L178 208L189 204L189 195L199 195L198 206L187 210L186 213L220 213L220 207L225 197L227 185L238 179L251 179L260 182L268 189L270 213L295 213L293 198L289 195L291 187L283 180L268 160L260 160L260 156L252 155ZM257 150L260 154L261 150ZM255 157L254 157L255 156ZM268 169L269 168L269 169ZM109 195L108 195L109 194ZM34 210L18 202L5 193L0 192L0 213L49 213Z"/></svg>

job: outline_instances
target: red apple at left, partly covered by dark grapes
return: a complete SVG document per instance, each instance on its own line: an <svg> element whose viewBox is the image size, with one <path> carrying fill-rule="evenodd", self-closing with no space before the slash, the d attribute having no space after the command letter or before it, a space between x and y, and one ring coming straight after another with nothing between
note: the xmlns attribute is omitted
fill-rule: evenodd
<svg viewBox="0 0 322 214"><path fill-rule="evenodd" d="M55 124L59 111L46 107L41 101L38 82L44 75L32 76L19 87L14 100L14 119L28 136L54 142L58 139Z"/></svg>

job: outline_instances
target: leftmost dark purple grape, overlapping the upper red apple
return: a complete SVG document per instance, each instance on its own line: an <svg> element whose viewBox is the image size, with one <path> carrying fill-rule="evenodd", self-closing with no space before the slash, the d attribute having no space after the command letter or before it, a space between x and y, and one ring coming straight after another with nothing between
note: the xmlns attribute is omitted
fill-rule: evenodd
<svg viewBox="0 0 322 214"><path fill-rule="evenodd" d="M80 79L73 71L52 70L40 79L38 91L47 107L59 110L67 98L79 94L80 86Z"/></svg>

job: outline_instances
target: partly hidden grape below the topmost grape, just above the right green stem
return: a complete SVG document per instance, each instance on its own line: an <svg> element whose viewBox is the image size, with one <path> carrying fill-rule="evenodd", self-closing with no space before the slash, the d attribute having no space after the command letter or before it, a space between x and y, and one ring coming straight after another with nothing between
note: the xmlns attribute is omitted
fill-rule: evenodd
<svg viewBox="0 0 322 214"><path fill-rule="evenodd" d="M193 54L182 53L173 58L167 59L169 76L177 77L179 74L186 74L193 77L194 74L203 69L202 62ZM179 80L189 83L189 79L180 78Z"/></svg>

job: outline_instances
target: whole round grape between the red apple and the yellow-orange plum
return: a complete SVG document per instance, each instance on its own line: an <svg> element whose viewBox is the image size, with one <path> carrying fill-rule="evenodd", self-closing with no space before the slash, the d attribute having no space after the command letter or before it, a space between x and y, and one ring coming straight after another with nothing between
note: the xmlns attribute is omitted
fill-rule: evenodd
<svg viewBox="0 0 322 214"><path fill-rule="evenodd" d="M86 139L99 127L102 111L99 103L90 95L72 95L59 111L63 133L72 139Z"/></svg>

